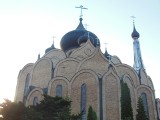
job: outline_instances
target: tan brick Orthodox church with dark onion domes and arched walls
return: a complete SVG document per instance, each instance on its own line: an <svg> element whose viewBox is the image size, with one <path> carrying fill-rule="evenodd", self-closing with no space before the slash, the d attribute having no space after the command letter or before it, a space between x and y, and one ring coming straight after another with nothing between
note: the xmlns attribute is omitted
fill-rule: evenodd
<svg viewBox="0 0 160 120"><path fill-rule="evenodd" d="M89 106L99 120L121 119L121 86L127 83L131 106L136 119L140 96L150 120L160 117L160 100L155 100L155 90L147 75L140 51L139 33L133 24L134 66L120 61L107 50L102 53L98 37L84 28L82 16L77 28L61 39L61 49L54 43L35 63L26 64L19 72L15 101L36 105L43 94L69 97L73 114L83 111L86 120Z"/></svg>

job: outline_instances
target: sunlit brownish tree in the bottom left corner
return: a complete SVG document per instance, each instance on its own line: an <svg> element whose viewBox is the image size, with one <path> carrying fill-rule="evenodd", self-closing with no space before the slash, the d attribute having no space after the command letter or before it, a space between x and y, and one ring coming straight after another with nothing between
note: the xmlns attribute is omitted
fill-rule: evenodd
<svg viewBox="0 0 160 120"><path fill-rule="evenodd" d="M33 107L26 107L22 102L11 102L8 99L0 104L3 118L0 120L43 120L42 115Z"/></svg>

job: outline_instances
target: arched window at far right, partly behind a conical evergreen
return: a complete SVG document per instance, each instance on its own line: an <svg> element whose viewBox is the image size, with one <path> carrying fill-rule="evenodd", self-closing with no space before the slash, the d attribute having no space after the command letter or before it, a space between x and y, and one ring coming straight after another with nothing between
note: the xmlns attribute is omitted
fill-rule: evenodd
<svg viewBox="0 0 160 120"><path fill-rule="evenodd" d="M145 109L146 115L149 118L148 102L147 102L147 95L146 95L146 93L142 93L141 94L141 98L142 98L142 101L143 101L143 105L144 105L144 109Z"/></svg>

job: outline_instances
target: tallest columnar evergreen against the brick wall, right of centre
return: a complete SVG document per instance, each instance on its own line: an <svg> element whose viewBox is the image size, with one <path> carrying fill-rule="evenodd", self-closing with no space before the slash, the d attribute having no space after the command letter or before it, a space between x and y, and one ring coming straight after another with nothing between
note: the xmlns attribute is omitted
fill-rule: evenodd
<svg viewBox="0 0 160 120"><path fill-rule="evenodd" d="M121 119L133 120L130 90L127 83L121 81Z"/></svg>

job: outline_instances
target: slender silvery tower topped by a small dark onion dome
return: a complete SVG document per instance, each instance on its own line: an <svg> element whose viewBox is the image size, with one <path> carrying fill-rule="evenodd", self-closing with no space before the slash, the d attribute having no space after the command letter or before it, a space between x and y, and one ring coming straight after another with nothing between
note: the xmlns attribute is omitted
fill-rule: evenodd
<svg viewBox="0 0 160 120"><path fill-rule="evenodd" d="M133 65L133 68L139 74L140 70L144 69L144 65L143 65L143 61L142 61L140 44L139 44L139 40L138 40L140 35L136 31L134 21L133 21L133 32L132 32L131 36L132 36L132 39L133 39L133 51L134 51L134 65Z"/></svg>

